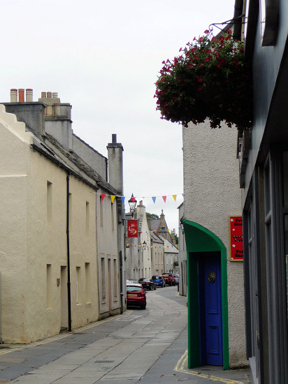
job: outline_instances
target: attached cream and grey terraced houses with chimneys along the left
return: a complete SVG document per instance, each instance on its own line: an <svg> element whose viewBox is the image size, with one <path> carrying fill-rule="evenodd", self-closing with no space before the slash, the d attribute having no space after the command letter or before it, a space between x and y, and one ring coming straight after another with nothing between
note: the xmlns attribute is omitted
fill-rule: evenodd
<svg viewBox="0 0 288 384"><path fill-rule="evenodd" d="M109 197L122 195L123 148L113 135L108 177L69 103L17 93L0 105L0 329L27 344L124 309L122 202Z"/></svg>

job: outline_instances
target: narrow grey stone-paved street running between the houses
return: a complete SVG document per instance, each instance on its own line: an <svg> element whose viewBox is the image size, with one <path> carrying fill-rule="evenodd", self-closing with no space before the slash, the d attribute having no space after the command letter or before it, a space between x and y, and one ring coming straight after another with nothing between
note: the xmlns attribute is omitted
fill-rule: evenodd
<svg viewBox="0 0 288 384"><path fill-rule="evenodd" d="M6 347L0 349L0 383L250 383L243 370L187 369L186 297L176 287L148 291L145 310Z"/></svg>

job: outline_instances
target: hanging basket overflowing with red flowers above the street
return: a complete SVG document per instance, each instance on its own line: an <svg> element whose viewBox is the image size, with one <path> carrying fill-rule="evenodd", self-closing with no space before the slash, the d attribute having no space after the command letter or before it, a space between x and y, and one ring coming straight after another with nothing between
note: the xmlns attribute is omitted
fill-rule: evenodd
<svg viewBox="0 0 288 384"><path fill-rule="evenodd" d="M154 97L161 119L187 126L210 120L237 128L252 126L252 83L244 61L244 46L233 40L231 31L219 38L205 31L194 38L182 54L163 61Z"/></svg>

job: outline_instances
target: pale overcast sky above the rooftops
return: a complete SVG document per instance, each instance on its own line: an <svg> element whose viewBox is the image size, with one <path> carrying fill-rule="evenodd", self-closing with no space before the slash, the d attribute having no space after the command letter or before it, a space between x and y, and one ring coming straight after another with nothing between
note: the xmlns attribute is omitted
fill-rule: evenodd
<svg viewBox="0 0 288 384"><path fill-rule="evenodd" d="M178 228L182 131L160 119L154 82L164 59L232 17L231 0L2 0L0 101L10 88L34 89L34 101L58 92L73 105L74 133L104 156L117 133L127 200L145 196L147 212L164 209Z"/></svg>

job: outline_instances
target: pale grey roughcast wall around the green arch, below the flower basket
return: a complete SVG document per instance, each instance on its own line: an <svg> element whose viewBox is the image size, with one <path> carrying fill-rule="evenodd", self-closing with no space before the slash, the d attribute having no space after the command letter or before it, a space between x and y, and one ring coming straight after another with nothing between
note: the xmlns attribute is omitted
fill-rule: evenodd
<svg viewBox="0 0 288 384"><path fill-rule="evenodd" d="M229 260L229 216L241 215L237 129L183 127L184 218L201 224L227 250L230 366L247 364L243 263Z"/></svg>

